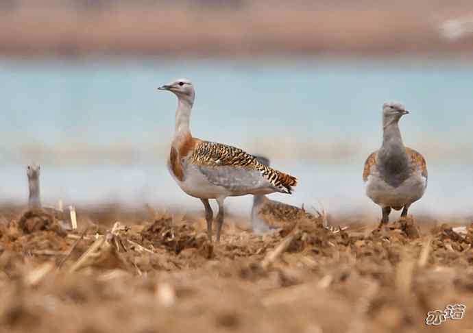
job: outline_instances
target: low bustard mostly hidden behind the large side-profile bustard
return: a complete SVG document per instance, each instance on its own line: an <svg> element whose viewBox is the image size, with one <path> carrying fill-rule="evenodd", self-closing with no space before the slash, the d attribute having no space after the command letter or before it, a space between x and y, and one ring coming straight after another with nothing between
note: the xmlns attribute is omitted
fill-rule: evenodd
<svg viewBox="0 0 473 333"><path fill-rule="evenodd" d="M269 167L269 158L255 155L258 162ZM304 208L299 208L284 204L283 202L271 200L266 195L254 195L252 207L252 228L255 234L262 234L274 227L282 227L285 223L293 223L300 219L309 219L322 223L323 227L330 232L337 233L347 227L335 227L329 225L324 214L317 215L306 212Z"/></svg>

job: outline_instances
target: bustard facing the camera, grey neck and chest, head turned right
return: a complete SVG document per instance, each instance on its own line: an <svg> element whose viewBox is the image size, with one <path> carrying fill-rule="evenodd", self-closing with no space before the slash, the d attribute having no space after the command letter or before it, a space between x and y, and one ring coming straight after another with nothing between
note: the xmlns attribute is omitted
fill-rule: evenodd
<svg viewBox="0 0 473 333"><path fill-rule="evenodd" d="M383 145L368 156L363 170L366 194L383 210L380 227L389 222L391 208L401 210L401 217L427 187L427 165L420 153L404 146L399 120L405 110L400 103L383 104Z"/></svg>

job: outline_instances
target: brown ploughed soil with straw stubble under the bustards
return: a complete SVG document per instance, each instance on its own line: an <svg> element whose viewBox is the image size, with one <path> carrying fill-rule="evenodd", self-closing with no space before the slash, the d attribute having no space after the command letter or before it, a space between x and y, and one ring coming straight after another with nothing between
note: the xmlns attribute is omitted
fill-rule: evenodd
<svg viewBox="0 0 473 333"><path fill-rule="evenodd" d="M254 236L228 221L211 245L200 216L78 217L64 232L0 210L0 332L473 332L473 225L300 220ZM464 318L427 326L447 304Z"/></svg>

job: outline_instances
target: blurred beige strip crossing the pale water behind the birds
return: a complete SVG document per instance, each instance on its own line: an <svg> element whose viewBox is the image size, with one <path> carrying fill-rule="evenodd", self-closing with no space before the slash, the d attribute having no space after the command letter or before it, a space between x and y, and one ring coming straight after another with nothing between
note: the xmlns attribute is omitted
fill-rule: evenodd
<svg viewBox="0 0 473 333"><path fill-rule="evenodd" d="M158 132L158 131L157 131ZM77 138L62 138L56 143L47 144L38 141L25 142L12 135L0 135L5 145L0 148L3 165L27 164L32 160L46 160L49 165L141 165L154 164L157 160L166 160L170 142L165 141L115 141L112 143L90 143ZM374 138L376 140L376 138ZM374 141L376 142L376 141ZM274 160L315 161L317 164L344 164L347 160L365 160L378 149L378 143L367 147L359 138L345 140L321 140L319 138L294 138L293 136L274 136L252 138L241 142L228 142L229 145L240 147L249 153L263 153ZM439 138L419 138L407 143L415 147L429 162L438 165L468 165L473 162L470 153L473 143L451 145Z"/></svg>

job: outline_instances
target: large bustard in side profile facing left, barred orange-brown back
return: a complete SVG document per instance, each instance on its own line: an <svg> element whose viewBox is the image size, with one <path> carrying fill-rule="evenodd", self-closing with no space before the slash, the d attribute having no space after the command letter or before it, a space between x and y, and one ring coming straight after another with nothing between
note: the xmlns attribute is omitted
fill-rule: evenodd
<svg viewBox="0 0 473 333"><path fill-rule="evenodd" d="M160 86L158 90L169 90L178 97L168 167L180 188L204 204L210 241L213 211L208 199L215 199L219 205L216 219L219 241L226 197L274 192L291 194L292 186L297 184L295 177L260 164L254 156L241 149L193 138L189 120L195 90L188 79L178 79Z"/></svg>

